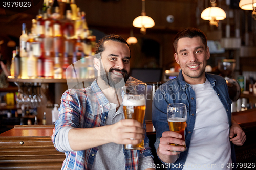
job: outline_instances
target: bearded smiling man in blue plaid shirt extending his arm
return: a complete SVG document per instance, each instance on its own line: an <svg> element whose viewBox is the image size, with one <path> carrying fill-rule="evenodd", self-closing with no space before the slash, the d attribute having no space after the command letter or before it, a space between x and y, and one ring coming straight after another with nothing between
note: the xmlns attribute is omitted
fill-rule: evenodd
<svg viewBox="0 0 256 170"><path fill-rule="evenodd" d="M67 90L61 98L52 141L66 154L62 169L153 169L145 121L124 119L123 114L121 87L129 78L129 45L119 35L109 35L95 53L98 79L90 87ZM143 150L124 149L124 144L143 139Z"/></svg>

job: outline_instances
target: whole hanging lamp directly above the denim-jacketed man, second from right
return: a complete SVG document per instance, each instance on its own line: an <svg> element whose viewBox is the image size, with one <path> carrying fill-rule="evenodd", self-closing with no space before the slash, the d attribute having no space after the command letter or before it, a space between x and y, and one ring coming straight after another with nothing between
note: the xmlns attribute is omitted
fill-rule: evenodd
<svg viewBox="0 0 256 170"><path fill-rule="evenodd" d="M219 20L223 20L227 17L225 11L219 7L216 7L216 0L210 0L211 7L208 7L203 10L201 13L201 18L203 20L209 20L210 25L215 25L218 27Z"/></svg>

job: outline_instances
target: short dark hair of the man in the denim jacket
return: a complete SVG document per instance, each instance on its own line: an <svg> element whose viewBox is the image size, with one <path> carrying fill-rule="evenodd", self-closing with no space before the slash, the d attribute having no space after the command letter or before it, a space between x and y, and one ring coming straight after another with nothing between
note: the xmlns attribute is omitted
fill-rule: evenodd
<svg viewBox="0 0 256 170"><path fill-rule="evenodd" d="M185 38L185 37L187 37L187 38L200 37L202 39L203 44L205 45L205 49L207 48L207 37L204 34L204 32L200 29L191 27L191 28L186 28L184 30L181 30L174 37L173 45L174 45L176 53L177 53L177 44L178 44L179 39Z"/></svg>

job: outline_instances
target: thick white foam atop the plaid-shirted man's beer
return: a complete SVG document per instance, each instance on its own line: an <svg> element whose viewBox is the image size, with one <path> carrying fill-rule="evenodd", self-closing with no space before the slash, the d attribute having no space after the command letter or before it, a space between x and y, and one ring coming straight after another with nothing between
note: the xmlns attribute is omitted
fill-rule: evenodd
<svg viewBox="0 0 256 170"><path fill-rule="evenodd" d="M145 105L144 95L124 95L123 106L143 106Z"/></svg>

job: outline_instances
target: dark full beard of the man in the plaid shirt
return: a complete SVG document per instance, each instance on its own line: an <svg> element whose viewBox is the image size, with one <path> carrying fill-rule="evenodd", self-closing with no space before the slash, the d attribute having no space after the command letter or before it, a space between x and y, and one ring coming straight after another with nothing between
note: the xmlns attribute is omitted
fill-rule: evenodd
<svg viewBox="0 0 256 170"><path fill-rule="evenodd" d="M116 77L112 71L118 71L122 72L123 77ZM129 78L129 74L126 70L124 69L118 69L118 68L110 68L109 71L103 68L101 65L100 69L100 78L104 81L104 83L110 87L114 88L121 88L125 85L126 81Z"/></svg>

